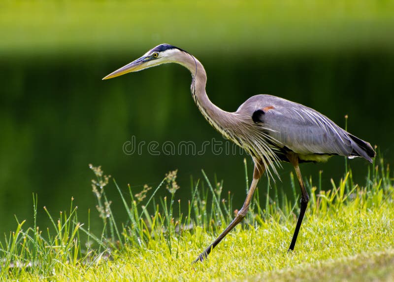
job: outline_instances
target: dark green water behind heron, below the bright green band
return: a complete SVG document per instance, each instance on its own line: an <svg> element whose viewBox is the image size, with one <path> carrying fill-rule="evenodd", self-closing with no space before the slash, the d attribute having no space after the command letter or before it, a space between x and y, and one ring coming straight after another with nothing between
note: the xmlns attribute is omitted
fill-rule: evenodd
<svg viewBox="0 0 394 282"><path fill-rule="evenodd" d="M89 163L101 165L126 194L128 183L137 193L143 184L155 187L166 172L179 169L181 189L176 199L185 204L191 197L190 176L200 178L204 169L211 179L214 174L224 179L224 190L236 195L235 208L242 204L242 160L246 155L218 154L210 149L201 155L168 155L160 149L166 141L175 146L194 141L197 150L204 141L224 141L194 105L186 69L165 65L101 81L139 55L1 59L0 234L15 228L14 214L32 224L33 193L38 194L41 228L47 226L42 207L56 216L68 209L72 196L81 221L91 209L92 220L99 222ZM221 108L236 110L250 96L264 93L313 107L340 126L348 114L349 131L377 144L392 163L393 54L197 57L208 73L208 95ZM124 153L125 142L133 137L136 143L145 141L141 154ZM158 142L160 155L149 154L151 141ZM247 162L251 172L252 161L248 158ZM354 178L364 184L368 163L362 159L350 163ZM291 169L284 165L279 187L288 189ZM320 170L324 171L323 186L329 189L329 179L342 176L344 159L333 157L327 164L301 167L303 175L313 179ZM265 184L261 187L265 190ZM107 189L117 218L125 221L126 212L114 185ZM163 188L159 194L166 193Z"/></svg>

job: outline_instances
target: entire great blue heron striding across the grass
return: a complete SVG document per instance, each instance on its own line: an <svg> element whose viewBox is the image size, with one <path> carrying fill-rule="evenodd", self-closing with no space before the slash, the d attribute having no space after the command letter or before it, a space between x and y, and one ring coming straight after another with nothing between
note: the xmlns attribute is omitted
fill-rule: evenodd
<svg viewBox="0 0 394 282"><path fill-rule="evenodd" d="M332 155L363 157L369 162L375 151L368 142L351 135L318 111L279 97L256 95L235 112L215 106L205 92L206 72L190 53L169 44L149 50L141 58L115 70L103 79L144 70L165 63L177 63L192 73L192 97L205 119L222 135L244 148L253 158L254 172L245 202L230 225L195 260L202 261L211 250L242 221L257 183L264 172L278 175L279 161L290 162L301 188L301 203L296 229L289 250L294 250L302 218L309 202L298 167L302 162L325 162Z"/></svg>

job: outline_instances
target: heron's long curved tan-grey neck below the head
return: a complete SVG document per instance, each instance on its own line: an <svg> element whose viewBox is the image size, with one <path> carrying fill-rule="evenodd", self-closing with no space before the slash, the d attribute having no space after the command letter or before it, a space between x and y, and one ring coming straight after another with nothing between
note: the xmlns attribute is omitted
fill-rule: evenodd
<svg viewBox="0 0 394 282"><path fill-rule="evenodd" d="M231 125L236 116L234 113L227 112L213 104L205 91L206 72L202 64L189 53L182 54L182 63L192 73L192 85L190 90L196 105L205 119L222 135L229 139L232 138Z"/></svg>

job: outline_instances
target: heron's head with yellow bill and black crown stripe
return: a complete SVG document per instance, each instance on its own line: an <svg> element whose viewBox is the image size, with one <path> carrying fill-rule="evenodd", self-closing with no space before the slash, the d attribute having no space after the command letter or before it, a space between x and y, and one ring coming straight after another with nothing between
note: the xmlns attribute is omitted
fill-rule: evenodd
<svg viewBox="0 0 394 282"><path fill-rule="evenodd" d="M178 47L169 44L160 44L150 49L142 57L138 58L135 61L132 61L126 66L123 66L119 70L115 70L114 72L105 76L103 79L113 78L133 71L145 70L165 63L173 63L176 62L177 55L184 52L184 50Z"/></svg>

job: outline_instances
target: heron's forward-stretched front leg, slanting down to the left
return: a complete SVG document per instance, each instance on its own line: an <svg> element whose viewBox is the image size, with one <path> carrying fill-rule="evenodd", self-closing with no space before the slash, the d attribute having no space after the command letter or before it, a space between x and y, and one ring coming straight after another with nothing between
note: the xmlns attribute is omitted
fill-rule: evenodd
<svg viewBox="0 0 394 282"><path fill-rule="evenodd" d="M212 249L214 247L216 247L216 245L218 245L220 243L220 241L222 241L223 238L225 238L225 236L239 223L243 220L243 218L246 216L246 214L248 213L249 210L249 204L250 201L252 200L253 197L253 193L255 192L255 189L257 187L257 183L259 182L259 179L261 177L261 175L263 174L264 169L262 168L257 168L255 166L254 169L254 173L253 173L253 180L252 183L250 184L250 188L248 191L248 194L246 196L245 202L241 208L241 210L239 210L239 212L237 213L237 215L235 216L235 218L231 221L231 223L229 224L229 226L227 226L227 228L218 236L218 238L216 238L215 241L213 241L213 243L211 245L209 245L198 257L195 261L193 261L193 263L196 263L198 261L203 261L208 254L212 251Z"/></svg>

